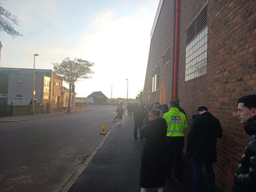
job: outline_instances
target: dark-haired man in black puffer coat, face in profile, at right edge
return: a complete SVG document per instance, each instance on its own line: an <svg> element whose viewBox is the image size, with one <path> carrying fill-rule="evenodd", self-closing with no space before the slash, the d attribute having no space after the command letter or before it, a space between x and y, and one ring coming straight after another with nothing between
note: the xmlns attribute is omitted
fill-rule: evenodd
<svg viewBox="0 0 256 192"><path fill-rule="evenodd" d="M244 132L251 137L234 178L234 192L256 191L256 95L238 99L237 116L244 125Z"/></svg>

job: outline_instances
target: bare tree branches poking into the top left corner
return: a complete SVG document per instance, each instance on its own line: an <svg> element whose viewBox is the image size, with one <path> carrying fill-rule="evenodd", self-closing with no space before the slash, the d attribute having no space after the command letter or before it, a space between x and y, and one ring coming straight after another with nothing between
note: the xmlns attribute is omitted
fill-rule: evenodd
<svg viewBox="0 0 256 192"><path fill-rule="evenodd" d="M5 10L0 4L0 31L6 32L12 38L23 36L14 29L13 25L19 26L18 17Z"/></svg>

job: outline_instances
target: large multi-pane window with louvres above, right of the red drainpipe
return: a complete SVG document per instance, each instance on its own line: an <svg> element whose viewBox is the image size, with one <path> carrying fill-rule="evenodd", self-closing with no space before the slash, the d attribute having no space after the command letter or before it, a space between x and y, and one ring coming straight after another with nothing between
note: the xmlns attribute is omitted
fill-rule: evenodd
<svg viewBox="0 0 256 192"><path fill-rule="evenodd" d="M207 73L208 4L187 28L185 81Z"/></svg>

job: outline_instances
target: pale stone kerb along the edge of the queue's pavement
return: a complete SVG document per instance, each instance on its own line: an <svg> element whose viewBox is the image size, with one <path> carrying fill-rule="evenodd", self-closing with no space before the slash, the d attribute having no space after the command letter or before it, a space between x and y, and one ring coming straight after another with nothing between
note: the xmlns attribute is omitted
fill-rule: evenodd
<svg viewBox="0 0 256 192"><path fill-rule="evenodd" d="M111 129L108 131L108 133L103 137L103 139L101 140L101 142L98 144L98 146L94 149L94 151L90 154L90 156L86 159L86 161L81 165L81 167L74 173L73 176L71 176L68 180L68 182L66 183L66 185L60 189L60 192L68 192L68 190L71 188L71 186L74 184L74 182L77 180L77 178L81 175L81 173L85 170L85 168L87 167L87 165L91 162L91 160L93 159L93 157L96 155L97 151L99 150L99 148L103 145L103 143L106 141L107 137L109 136L109 134L111 133L111 131L114 129L114 127L116 126L117 122L113 125L113 127L111 127Z"/></svg>

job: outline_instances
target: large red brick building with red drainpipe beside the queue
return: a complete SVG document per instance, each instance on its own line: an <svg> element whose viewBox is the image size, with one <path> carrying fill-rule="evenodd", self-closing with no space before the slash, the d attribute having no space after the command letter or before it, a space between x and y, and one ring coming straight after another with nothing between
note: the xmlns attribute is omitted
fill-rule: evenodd
<svg viewBox="0 0 256 192"><path fill-rule="evenodd" d="M256 1L178 2L177 98L189 125L201 105L220 120L216 184L231 191L249 138L236 117L237 99L256 94ZM144 103L165 104L175 98L176 19L176 1L160 0L151 31Z"/></svg>

